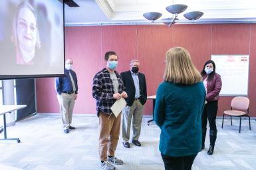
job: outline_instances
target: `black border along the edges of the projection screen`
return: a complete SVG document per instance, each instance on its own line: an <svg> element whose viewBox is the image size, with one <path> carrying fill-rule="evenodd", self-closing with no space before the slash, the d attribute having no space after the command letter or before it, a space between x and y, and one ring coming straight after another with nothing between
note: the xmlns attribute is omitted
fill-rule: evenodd
<svg viewBox="0 0 256 170"><path fill-rule="evenodd" d="M55 0L55 1L58 1L58 0ZM34 79L34 78L44 78L44 77L64 77L66 76L64 74L64 70L65 70L65 60L66 60L66 50L65 50L65 15L64 15L64 2L63 1L59 1L60 3L62 3L63 5L63 57L64 57L64 60L63 60L63 74L39 74L39 75L0 75L0 80L5 80L5 79Z"/></svg>

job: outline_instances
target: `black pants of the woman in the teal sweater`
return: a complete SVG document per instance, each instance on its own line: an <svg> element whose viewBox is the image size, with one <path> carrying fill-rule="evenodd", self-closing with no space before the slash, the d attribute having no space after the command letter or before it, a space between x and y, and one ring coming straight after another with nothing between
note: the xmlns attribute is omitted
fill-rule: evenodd
<svg viewBox="0 0 256 170"><path fill-rule="evenodd" d="M161 155L166 170L191 170L193 160L197 154L183 157L172 157L163 154Z"/></svg>

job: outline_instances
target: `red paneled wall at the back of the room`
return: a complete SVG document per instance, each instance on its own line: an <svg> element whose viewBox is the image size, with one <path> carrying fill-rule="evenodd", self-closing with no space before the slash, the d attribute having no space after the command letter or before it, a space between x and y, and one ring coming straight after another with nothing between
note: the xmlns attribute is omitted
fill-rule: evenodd
<svg viewBox="0 0 256 170"><path fill-rule="evenodd" d="M197 69L211 54L249 54L249 99L251 116L256 108L254 88L256 65L256 24L176 24L139 26L66 27L66 58L74 62L78 75L78 99L74 113L94 114L92 79L105 67L104 53L118 54L118 71L129 69L132 59L140 60L140 71L146 75L148 95L155 95L164 72L166 51L174 46L189 50ZM218 116L230 108L232 97L221 97ZM37 111L59 112L53 78L37 79ZM152 101L146 103L145 114L152 112Z"/></svg>

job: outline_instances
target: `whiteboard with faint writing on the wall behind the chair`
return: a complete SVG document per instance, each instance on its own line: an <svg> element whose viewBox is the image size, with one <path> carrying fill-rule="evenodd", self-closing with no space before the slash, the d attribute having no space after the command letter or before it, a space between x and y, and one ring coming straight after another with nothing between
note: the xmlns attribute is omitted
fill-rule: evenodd
<svg viewBox="0 0 256 170"><path fill-rule="evenodd" d="M248 95L249 55L211 55L221 75L219 95Z"/></svg>

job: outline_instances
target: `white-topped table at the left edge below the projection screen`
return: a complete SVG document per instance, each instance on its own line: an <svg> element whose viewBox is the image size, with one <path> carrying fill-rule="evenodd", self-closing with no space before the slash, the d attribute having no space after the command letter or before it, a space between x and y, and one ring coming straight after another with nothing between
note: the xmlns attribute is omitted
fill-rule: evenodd
<svg viewBox="0 0 256 170"><path fill-rule="evenodd" d="M21 142L19 138L7 138L5 114L11 113L15 110L19 110L25 107L27 107L27 105L1 105L0 106L0 115L3 114L3 134L4 134L4 138L0 140L16 140L18 143Z"/></svg>

